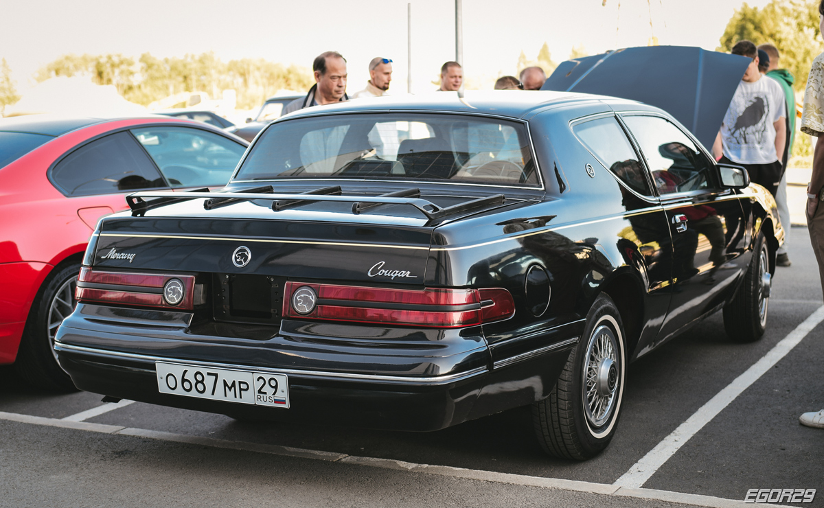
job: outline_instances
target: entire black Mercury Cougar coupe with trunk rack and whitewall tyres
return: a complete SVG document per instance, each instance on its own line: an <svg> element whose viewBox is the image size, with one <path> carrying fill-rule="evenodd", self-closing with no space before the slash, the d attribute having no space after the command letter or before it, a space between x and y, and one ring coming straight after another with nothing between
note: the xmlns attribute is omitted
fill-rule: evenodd
<svg viewBox="0 0 824 508"><path fill-rule="evenodd" d="M531 405L568 459L615 435L629 361L722 309L761 338L784 238L663 110L545 91L301 110L221 192L129 204L55 339L79 388L405 431Z"/></svg>

